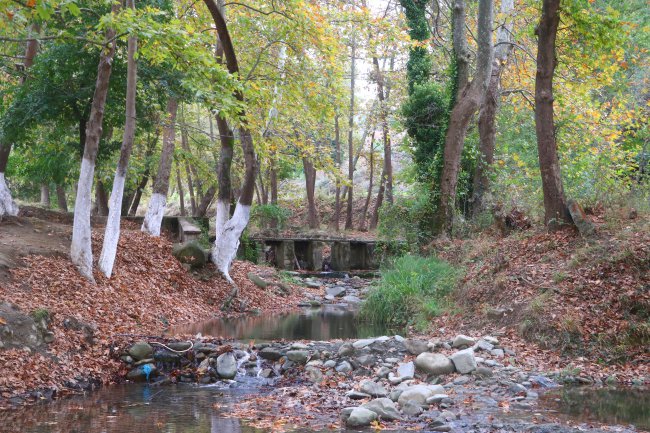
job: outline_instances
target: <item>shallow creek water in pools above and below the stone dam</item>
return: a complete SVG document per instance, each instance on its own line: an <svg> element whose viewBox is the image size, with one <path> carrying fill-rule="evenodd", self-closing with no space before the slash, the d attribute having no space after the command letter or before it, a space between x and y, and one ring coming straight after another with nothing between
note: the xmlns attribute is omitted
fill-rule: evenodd
<svg viewBox="0 0 650 433"><path fill-rule="evenodd" d="M358 321L356 309L340 304L306 308L289 314L211 320L172 331L177 334L201 333L204 336L232 338L244 342L277 339L324 341L388 334L381 326ZM227 414L231 404L268 392L268 384L268 380L246 375L242 370L242 374L230 384L110 386L50 404L0 412L0 432L261 433L271 430L249 427L239 419L227 417ZM555 412L566 419L619 425L634 424L638 429L650 429L648 391L565 388L542 396L540 403L538 411ZM530 422L530 415L530 412L521 415L510 414L512 419L523 421L527 418L527 423ZM491 424L492 415L488 412L473 417L485 420L484 425ZM510 424L514 430L490 430L488 427L487 430L480 431L519 431L517 425L524 428L524 424L516 424L517 421L512 419L506 421L506 424Z"/></svg>

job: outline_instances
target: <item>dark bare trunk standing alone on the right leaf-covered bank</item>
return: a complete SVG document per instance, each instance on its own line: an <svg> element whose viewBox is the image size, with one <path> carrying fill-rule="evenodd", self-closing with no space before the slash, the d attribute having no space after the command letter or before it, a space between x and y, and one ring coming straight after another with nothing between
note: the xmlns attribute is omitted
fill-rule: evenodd
<svg viewBox="0 0 650 433"><path fill-rule="evenodd" d="M559 23L560 0L543 0L542 17L536 30L535 131L544 191L544 222L550 230L572 222L564 197L553 119L553 74L557 64L555 39Z"/></svg>

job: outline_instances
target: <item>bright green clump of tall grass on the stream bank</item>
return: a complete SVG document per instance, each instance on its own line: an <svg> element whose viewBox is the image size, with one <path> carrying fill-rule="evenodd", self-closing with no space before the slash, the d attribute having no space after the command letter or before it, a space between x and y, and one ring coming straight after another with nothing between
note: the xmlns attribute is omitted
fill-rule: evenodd
<svg viewBox="0 0 650 433"><path fill-rule="evenodd" d="M399 257L382 270L361 307L361 318L389 327L424 329L443 310L459 276L459 269L436 257Z"/></svg>

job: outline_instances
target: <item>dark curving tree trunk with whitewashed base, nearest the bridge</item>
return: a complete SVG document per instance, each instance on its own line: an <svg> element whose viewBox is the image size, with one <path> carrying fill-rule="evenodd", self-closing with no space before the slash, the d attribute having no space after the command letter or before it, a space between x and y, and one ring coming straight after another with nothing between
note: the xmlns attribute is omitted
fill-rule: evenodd
<svg viewBox="0 0 650 433"><path fill-rule="evenodd" d="M228 67L228 72L233 75L239 75L237 56L235 54L232 40L230 39L226 20L223 15L223 8L219 7L219 5L214 2L214 0L204 0L204 3L208 7L210 14L212 15L212 19L214 20L217 34L219 35L219 42L223 49L223 57L225 58L226 66ZM239 101L244 102L244 96L241 92L236 91L235 97ZM241 117L242 119L245 119L245 113L242 112ZM253 137L251 136L251 133L248 130L248 125L245 121L241 123L241 126L239 128L239 137L244 153L245 166L242 191L239 196L237 206L235 207L235 212L225 224L221 225L221 227L219 227L219 204L217 205L217 224L215 224L215 226L219 231L217 232L217 238L214 242L214 247L211 254L212 261L215 263L217 269L231 284L234 284L234 282L230 277L230 265L232 264L232 261L237 254L237 248L239 247L239 238L248 225L248 221L250 219L250 210L251 205L253 204L253 194L255 190L255 176L257 172L257 159L255 157ZM232 153L230 155L230 159L232 160ZM230 167L228 167L228 170L229 169ZM221 167L220 171L224 171L223 167ZM222 174L223 173L220 173L220 176ZM230 173L228 173L228 177L230 177L229 174ZM221 191L219 198L222 198Z"/></svg>

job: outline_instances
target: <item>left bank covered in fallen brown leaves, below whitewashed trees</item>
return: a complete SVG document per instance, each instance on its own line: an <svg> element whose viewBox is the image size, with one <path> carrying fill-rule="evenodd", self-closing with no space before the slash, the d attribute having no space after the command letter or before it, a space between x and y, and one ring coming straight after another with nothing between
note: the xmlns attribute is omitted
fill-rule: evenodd
<svg viewBox="0 0 650 433"><path fill-rule="evenodd" d="M231 276L238 302L223 311L232 287L212 265L188 271L172 256L169 240L128 222L112 278L96 271L92 284L70 262L69 221L52 214L0 222L0 407L114 381L121 366L112 347L134 335L160 335L169 326L224 315L285 311L302 299L291 286L262 289L247 277L254 272L273 282L274 269L236 261ZM95 257L102 238L101 227L94 227ZM25 394L38 389L47 392Z"/></svg>

